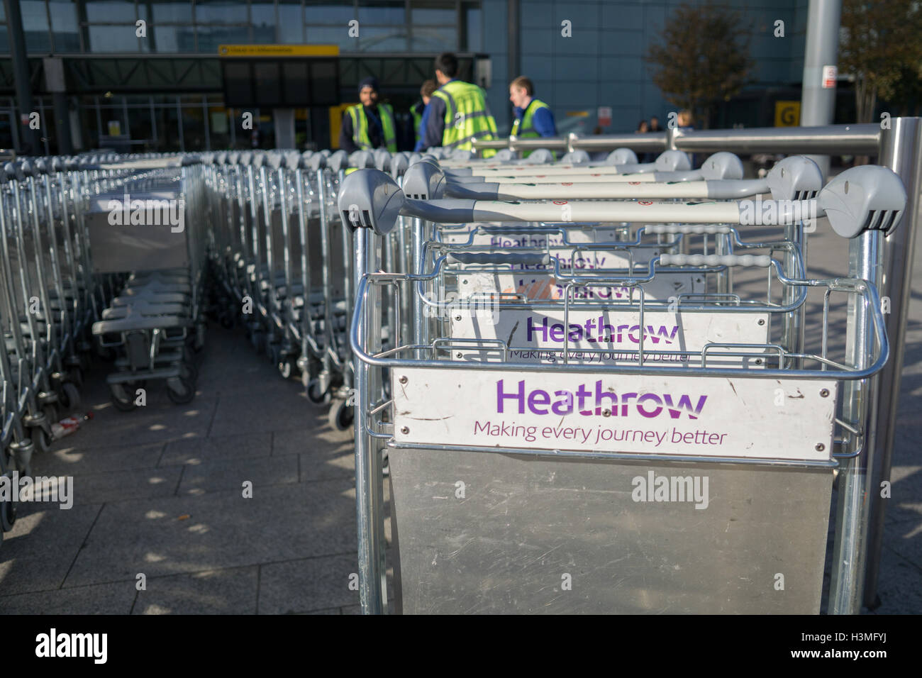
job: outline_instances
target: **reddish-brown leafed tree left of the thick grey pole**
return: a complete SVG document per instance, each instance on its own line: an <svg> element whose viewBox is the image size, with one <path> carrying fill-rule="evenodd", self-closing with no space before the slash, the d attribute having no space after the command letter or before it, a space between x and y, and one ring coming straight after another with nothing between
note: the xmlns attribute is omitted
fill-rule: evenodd
<svg viewBox="0 0 922 678"><path fill-rule="evenodd" d="M687 108L706 128L720 101L729 101L747 83L753 61L739 38L747 31L739 14L708 2L680 5L660 42L645 55L653 82L669 103Z"/></svg>

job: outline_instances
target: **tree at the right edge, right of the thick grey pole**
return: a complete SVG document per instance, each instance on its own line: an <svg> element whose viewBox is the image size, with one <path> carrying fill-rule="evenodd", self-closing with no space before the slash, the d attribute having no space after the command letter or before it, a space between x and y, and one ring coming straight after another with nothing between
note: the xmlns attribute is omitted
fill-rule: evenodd
<svg viewBox="0 0 922 678"><path fill-rule="evenodd" d="M922 9L915 0L844 0L841 27L839 67L855 77L857 122L876 122L879 99L905 104L918 89Z"/></svg>

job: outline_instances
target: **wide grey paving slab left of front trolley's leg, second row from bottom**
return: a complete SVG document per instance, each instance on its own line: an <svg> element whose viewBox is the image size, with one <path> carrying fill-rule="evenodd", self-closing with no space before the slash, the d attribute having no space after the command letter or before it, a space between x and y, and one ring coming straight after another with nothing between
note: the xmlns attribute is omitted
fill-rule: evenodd
<svg viewBox="0 0 922 678"><path fill-rule="evenodd" d="M355 542L348 480L119 502L104 506L65 585L346 553Z"/></svg>

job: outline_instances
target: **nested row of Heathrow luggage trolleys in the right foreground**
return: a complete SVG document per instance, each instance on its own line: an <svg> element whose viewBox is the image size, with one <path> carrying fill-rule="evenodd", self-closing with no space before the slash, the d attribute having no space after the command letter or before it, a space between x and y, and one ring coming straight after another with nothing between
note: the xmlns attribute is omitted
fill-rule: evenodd
<svg viewBox="0 0 922 678"><path fill-rule="evenodd" d="M765 182L726 156L710 175L657 176L683 171L664 156L609 170L420 161L402 188L372 170L343 181L365 612L387 609L383 448L396 610L819 611L834 471L850 492L873 444L880 241L903 185L862 167L822 187L799 158ZM770 238L747 237L747 196L780 227ZM805 275L804 218L823 214L851 238L847 277ZM412 272L381 272L404 229ZM758 295L734 289L750 268L764 270ZM383 309L411 316L390 345ZM859 510L837 517L833 611L854 595Z"/></svg>

